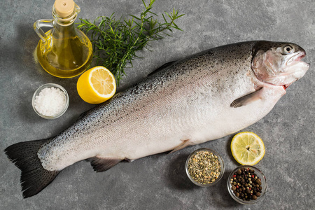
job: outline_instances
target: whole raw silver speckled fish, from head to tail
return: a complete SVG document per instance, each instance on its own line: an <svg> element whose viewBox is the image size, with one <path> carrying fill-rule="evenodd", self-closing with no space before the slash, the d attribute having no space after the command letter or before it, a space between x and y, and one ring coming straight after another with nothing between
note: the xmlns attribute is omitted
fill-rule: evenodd
<svg viewBox="0 0 315 210"><path fill-rule="evenodd" d="M57 137L6 148L24 197L69 165L103 172L121 160L225 137L264 117L309 69L293 43L249 41L197 53L87 111Z"/></svg>

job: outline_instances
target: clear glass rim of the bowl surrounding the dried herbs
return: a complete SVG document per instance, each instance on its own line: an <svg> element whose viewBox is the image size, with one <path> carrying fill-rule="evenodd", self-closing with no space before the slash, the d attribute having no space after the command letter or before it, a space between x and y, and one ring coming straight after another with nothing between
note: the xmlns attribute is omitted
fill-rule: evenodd
<svg viewBox="0 0 315 210"><path fill-rule="evenodd" d="M195 181L195 179L193 179L193 177L190 176L190 173L188 171L188 162L190 160L190 158L193 157L193 155L195 155L197 152L200 152L200 151L208 151L210 153L213 153L214 155L216 155L218 157L218 161L220 162L220 165L221 165L221 172L220 172L220 175L218 176L218 178L212 182L212 183L209 183L209 184L202 184L202 183L199 183L197 181ZM200 187L209 187L209 186L214 186L216 183L218 183L222 177L223 177L223 174L224 174L224 162L223 162L223 159L221 157L221 155L219 155L216 151L213 151L209 148L200 148L200 149L197 149L196 151L193 151L193 153L191 153L187 160L186 160L186 174L188 176L188 178L190 179L190 181L192 181L196 186L200 186Z"/></svg>

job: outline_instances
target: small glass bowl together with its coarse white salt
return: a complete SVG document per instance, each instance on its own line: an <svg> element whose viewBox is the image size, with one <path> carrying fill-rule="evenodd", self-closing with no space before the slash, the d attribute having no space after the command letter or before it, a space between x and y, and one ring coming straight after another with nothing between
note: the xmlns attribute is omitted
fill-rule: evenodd
<svg viewBox="0 0 315 210"><path fill-rule="evenodd" d="M61 85L48 83L41 85L31 99L34 111L45 119L62 116L69 106L69 95Z"/></svg>

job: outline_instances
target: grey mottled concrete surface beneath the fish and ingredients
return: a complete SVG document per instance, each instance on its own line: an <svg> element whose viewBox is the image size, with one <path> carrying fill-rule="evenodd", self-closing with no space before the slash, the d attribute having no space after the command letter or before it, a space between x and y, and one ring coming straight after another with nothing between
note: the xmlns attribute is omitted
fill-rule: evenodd
<svg viewBox="0 0 315 210"><path fill-rule="evenodd" d="M265 158L257 165L268 181L263 202L243 206L228 194L228 174L238 166L230 153L232 135L171 155L123 162L103 173L93 172L88 162L78 162L64 169L41 193L23 200L20 170L3 149L58 134L92 107L78 97L78 78L55 78L34 62L39 38L33 23L51 18L53 2L0 2L0 209L314 209L314 0L157 0L155 13L176 8L186 14L178 22L184 31L151 43L153 52L140 52L145 58L134 61L120 86L123 90L166 62L219 45L260 39L301 45L311 68L265 118L246 128L265 142ZM137 15L144 9L141 0L76 3L82 9L79 17L90 20L113 12L116 17ZM42 119L31 108L32 94L44 83L58 83L70 94L69 109L57 120ZM189 153L202 147L218 151L225 161L221 183L211 188L194 186L184 170Z"/></svg>

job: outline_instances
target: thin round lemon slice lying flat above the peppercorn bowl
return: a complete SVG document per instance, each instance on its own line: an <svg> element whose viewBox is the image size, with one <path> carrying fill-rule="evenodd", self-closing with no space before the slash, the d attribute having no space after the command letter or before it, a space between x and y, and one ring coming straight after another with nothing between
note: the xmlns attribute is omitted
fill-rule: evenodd
<svg viewBox="0 0 315 210"><path fill-rule="evenodd" d="M253 132L241 132L231 142L232 155L241 165L255 165L265 155L265 146Z"/></svg>

